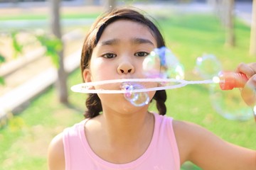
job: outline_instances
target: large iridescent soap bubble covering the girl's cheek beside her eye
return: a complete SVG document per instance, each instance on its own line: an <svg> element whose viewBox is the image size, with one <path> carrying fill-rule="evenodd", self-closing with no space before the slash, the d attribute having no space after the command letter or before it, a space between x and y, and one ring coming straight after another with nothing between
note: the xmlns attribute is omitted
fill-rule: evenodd
<svg viewBox="0 0 256 170"><path fill-rule="evenodd" d="M147 78L184 79L183 65L166 47L152 51L142 67Z"/></svg>

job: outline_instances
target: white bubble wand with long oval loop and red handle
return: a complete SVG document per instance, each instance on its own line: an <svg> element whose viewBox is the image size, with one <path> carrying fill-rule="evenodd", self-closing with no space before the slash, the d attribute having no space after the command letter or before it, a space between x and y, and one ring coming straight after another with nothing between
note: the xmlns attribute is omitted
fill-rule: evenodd
<svg viewBox="0 0 256 170"><path fill-rule="evenodd" d="M132 82L160 82L164 84L176 83L166 86L157 86L152 88L140 88L133 89L134 93L148 92L148 91L158 91L166 89L176 89L186 86L188 84L213 84L219 83L220 89L222 90L232 90L234 88L242 88L245 86L248 78L245 74L235 73L235 72L220 72L218 77L213 77L213 79L200 80L200 81L187 81L183 79L111 79L103 81L87 82L82 84L77 84L71 87L71 90L83 94L125 94L125 88L120 90L106 90L106 89L93 89L93 86L98 86L102 84L114 84L114 83L132 83Z"/></svg>

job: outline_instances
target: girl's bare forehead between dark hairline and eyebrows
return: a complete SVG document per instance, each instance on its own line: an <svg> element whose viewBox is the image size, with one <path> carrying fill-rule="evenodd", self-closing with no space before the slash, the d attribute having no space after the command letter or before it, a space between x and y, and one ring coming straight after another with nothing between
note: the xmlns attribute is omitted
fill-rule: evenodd
<svg viewBox="0 0 256 170"><path fill-rule="evenodd" d="M146 38L154 42L156 45L156 38L154 33L149 29L148 26L139 23L137 21L130 20L117 20L110 23L103 31L100 41L112 38L127 39L127 38Z"/></svg>

